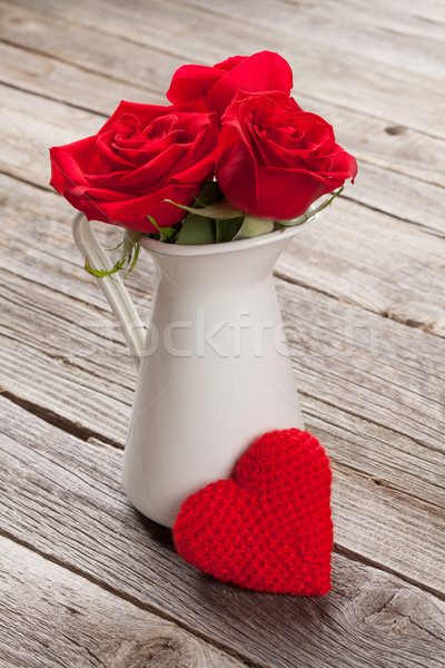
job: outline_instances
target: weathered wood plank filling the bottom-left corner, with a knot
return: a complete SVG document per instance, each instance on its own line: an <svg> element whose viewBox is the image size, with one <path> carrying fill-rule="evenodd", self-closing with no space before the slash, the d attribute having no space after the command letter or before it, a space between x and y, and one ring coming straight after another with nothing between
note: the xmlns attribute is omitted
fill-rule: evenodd
<svg viewBox="0 0 445 668"><path fill-rule="evenodd" d="M241 668L98 584L0 538L0 665L8 668Z"/></svg>

